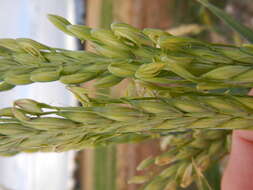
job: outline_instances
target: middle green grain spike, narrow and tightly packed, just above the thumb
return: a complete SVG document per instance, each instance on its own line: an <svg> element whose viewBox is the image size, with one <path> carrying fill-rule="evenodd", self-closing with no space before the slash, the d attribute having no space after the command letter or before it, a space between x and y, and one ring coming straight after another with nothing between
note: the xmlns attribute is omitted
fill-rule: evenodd
<svg viewBox="0 0 253 190"><path fill-rule="evenodd" d="M221 133L248 129L252 127L252 100L218 95L96 98L89 99L86 107L54 107L20 99L0 110L0 152L66 151L192 129L223 129ZM217 130L208 134L212 132Z"/></svg>

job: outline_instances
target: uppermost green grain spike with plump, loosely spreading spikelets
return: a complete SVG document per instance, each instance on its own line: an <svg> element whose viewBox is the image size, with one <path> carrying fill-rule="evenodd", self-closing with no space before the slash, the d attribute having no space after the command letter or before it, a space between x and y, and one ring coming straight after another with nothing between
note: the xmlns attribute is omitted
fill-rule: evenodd
<svg viewBox="0 0 253 190"><path fill-rule="evenodd" d="M252 87L252 45L211 44L123 23L107 30L72 25L55 15L49 19L65 33L89 40L97 53L55 49L31 39L0 39L1 90L32 82L79 84L92 79L105 88L124 78L199 90Z"/></svg>

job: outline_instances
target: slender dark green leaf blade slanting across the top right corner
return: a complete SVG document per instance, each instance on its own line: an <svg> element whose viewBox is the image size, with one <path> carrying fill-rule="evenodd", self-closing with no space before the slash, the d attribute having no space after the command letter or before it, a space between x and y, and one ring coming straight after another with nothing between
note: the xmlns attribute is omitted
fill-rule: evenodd
<svg viewBox="0 0 253 190"><path fill-rule="evenodd" d="M237 31L249 42L253 43L253 31L250 28L240 24L237 20L232 18L230 15L228 15L226 12L219 9L218 7L210 4L207 0L197 0L197 1L206 8L208 8L214 15L219 17L223 22L225 22L228 26Z"/></svg>

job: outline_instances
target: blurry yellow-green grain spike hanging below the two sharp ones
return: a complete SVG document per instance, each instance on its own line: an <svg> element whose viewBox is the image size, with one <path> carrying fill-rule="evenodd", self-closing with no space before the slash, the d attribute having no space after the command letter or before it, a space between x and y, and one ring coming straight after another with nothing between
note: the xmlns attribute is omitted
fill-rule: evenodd
<svg viewBox="0 0 253 190"><path fill-rule="evenodd" d="M129 183L145 183L144 190L186 188L228 153L231 140L230 132L219 130L196 130L168 137L169 151L143 160L137 168L147 170L155 165L161 168L160 172L135 176Z"/></svg>

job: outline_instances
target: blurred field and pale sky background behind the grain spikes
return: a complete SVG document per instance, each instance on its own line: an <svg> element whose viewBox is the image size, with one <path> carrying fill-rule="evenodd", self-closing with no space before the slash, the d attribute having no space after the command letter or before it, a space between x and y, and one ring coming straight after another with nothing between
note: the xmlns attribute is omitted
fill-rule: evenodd
<svg viewBox="0 0 253 190"><path fill-rule="evenodd" d="M253 26L252 0L211 2ZM95 28L108 28L110 23L120 21L138 28L161 28L174 35L217 43L243 43L236 33L194 0L0 0L0 37L28 37L53 47L89 49L88 44L81 44L55 29L46 18L48 13ZM119 89L126 83L108 93L120 96ZM92 83L86 87L91 86ZM10 106L18 98L33 98L56 106L78 104L58 82L1 92L0 106ZM127 184L127 180L140 174L136 166L141 160L159 152L160 143L153 140L81 152L0 157L0 190L136 190L138 186ZM219 167L211 168L206 176L218 190ZM194 186L189 189L193 190Z"/></svg>

